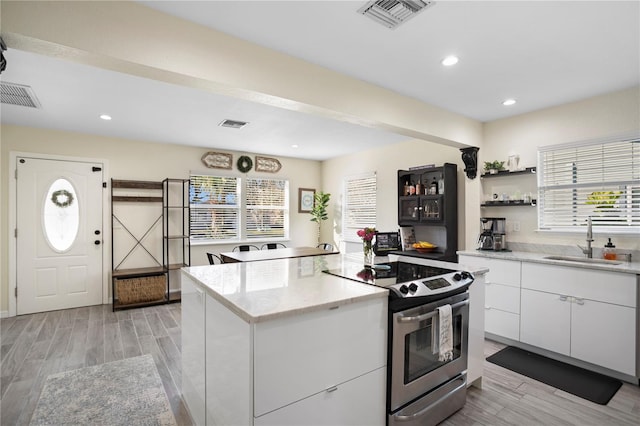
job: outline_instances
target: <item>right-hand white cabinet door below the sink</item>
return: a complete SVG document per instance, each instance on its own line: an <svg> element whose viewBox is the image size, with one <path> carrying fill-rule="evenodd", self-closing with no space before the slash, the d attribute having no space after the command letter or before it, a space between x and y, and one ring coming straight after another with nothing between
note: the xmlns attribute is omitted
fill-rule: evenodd
<svg viewBox="0 0 640 426"><path fill-rule="evenodd" d="M571 309L571 356L634 376L636 310L580 299Z"/></svg>

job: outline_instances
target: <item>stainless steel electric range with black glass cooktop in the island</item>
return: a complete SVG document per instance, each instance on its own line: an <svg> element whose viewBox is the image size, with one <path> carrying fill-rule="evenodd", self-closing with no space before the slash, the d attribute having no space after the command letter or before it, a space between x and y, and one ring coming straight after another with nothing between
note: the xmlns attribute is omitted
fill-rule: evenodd
<svg viewBox="0 0 640 426"><path fill-rule="evenodd" d="M402 261L324 272L389 290L388 425L435 425L464 406L471 273ZM447 361L437 349L443 305L452 312L453 358Z"/></svg>

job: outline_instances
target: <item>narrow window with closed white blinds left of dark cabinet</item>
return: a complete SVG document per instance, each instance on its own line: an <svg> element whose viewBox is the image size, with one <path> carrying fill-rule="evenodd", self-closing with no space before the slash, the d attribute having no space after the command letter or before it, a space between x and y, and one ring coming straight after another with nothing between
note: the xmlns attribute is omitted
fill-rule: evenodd
<svg viewBox="0 0 640 426"><path fill-rule="evenodd" d="M342 237L345 241L360 241L356 232L376 226L376 174L348 176L344 180Z"/></svg>

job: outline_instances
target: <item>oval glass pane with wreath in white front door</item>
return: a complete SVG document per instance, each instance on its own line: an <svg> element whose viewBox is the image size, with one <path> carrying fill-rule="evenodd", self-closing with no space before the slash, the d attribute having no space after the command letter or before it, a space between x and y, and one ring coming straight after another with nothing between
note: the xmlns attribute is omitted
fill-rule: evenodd
<svg viewBox="0 0 640 426"><path fill-rule="evenodd" d="M80 209L73 185L66 179L51 184L43 207L44 234L58 252L69 250L78 236Z"/></svg>

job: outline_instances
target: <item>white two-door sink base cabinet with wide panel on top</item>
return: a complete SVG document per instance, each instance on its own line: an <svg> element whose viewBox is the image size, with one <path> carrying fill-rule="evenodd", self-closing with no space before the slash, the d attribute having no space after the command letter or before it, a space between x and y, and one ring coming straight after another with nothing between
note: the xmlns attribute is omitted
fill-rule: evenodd
<svg viewBox="0 0 640 426"><path fill-rule="evenodd" d="M522 342L635 375L635 275L524 263L522 287Z"/></svg>

